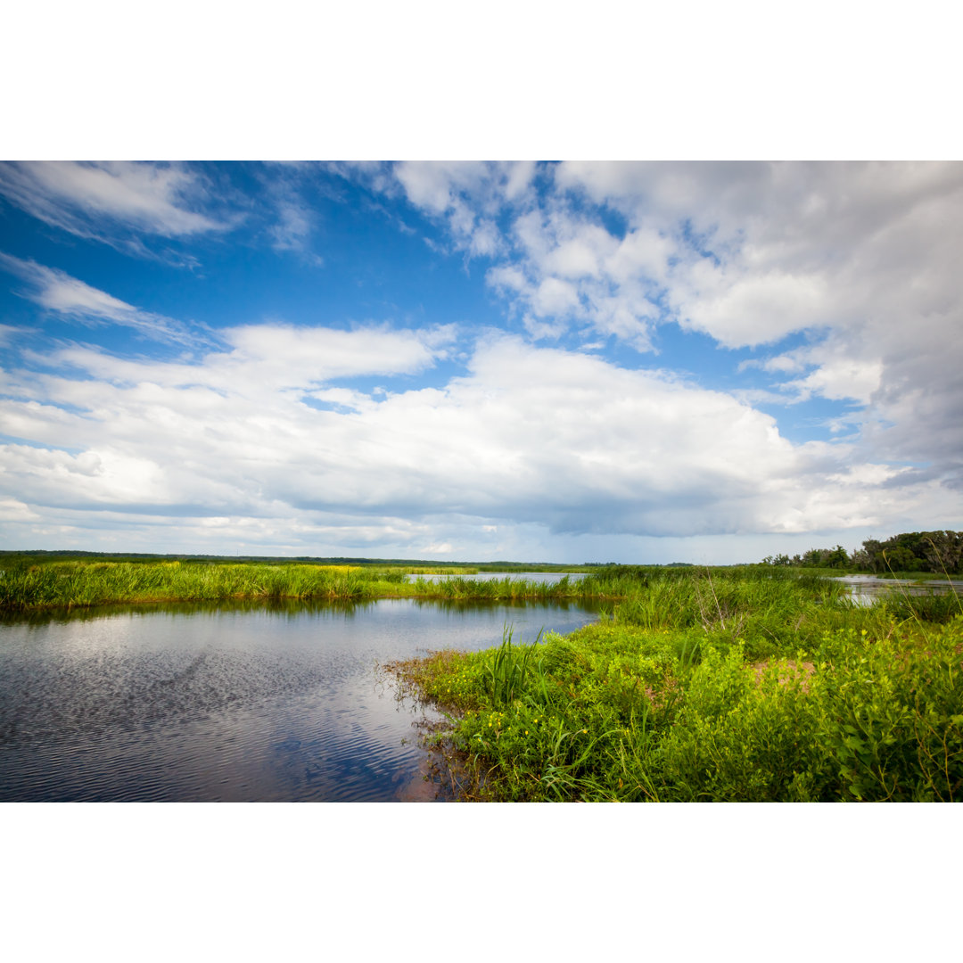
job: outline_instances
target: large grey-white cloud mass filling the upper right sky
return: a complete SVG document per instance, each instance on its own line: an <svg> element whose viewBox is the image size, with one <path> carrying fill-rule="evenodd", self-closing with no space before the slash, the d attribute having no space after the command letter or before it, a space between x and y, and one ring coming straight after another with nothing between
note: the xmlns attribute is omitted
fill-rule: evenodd
<svg viewBox="0 0 963 963"><path fill-rule="evenodd" d="M679 325L755 349L770 401L852 403L866 457L959 483L963 165L565 162L524 203L481 166L397 173L466 223L502 205L486 279L530 337L652 351Z"/></svg>

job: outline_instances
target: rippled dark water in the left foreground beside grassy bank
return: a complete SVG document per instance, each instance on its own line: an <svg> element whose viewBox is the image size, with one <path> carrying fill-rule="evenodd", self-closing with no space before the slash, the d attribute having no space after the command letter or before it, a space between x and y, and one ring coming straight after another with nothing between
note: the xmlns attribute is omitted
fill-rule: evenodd
<svg viewBox="0 0 963 963"><path fill-rule="evenodd" d="M0 624L0 801L426 797L377 664L571 632L580 605L169 605ZM433 795L433 791L427 794Z"/></svg>

